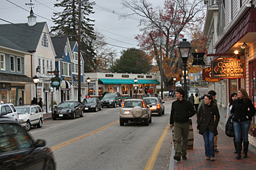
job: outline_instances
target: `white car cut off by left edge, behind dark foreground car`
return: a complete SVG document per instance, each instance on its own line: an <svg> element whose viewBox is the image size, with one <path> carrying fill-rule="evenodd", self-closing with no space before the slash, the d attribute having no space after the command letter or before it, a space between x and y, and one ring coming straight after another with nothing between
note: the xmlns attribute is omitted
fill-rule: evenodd
<svg viewBox="0 0 256 170"><path fill-rule="evenodd" d="M0 116L8 117L14 120L15 122L19 122L18 112L16 111L15 107L11 103L0 104Z"/></svg>

